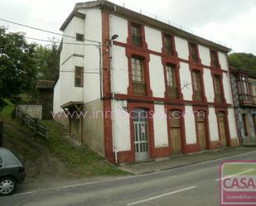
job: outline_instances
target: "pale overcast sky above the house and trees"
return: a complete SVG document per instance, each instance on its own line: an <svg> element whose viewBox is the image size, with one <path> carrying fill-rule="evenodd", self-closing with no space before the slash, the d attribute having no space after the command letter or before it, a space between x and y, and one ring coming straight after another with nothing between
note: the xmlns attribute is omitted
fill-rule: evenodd
<svg viewBox="0 0 256 206"><path fill-rule="evenodd" d="M75 0L1 0L0 18L59 32L75 6ZM198 36L229 46L235 52L256 55L256 0L111 0L157 18L181 25ZM22 26L7 25L9 31L45 39L50 34ZM60 36L57 36L60 39Z"/></svg>

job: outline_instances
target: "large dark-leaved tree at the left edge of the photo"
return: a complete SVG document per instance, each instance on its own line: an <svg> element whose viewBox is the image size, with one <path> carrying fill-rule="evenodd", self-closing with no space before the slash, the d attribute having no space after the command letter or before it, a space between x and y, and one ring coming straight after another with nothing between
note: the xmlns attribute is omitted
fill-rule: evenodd
<svg viewBox="0 0 256 206"><path fill-rule="evenodd" d="M28 44L22 32L7 32L0 27L0 110L17 95L35 85L35 44Z"/></svg>

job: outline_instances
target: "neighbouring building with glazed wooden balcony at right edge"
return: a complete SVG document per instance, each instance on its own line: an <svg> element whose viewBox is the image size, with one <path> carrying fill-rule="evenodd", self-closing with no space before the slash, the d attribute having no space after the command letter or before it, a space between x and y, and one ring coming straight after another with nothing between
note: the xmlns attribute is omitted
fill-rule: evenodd
<svg viewBox="0 0 256 206"><path fill-rule="evenodd" d="M234 108L243 144L256 142L256 74L230 68Z"/></svg>

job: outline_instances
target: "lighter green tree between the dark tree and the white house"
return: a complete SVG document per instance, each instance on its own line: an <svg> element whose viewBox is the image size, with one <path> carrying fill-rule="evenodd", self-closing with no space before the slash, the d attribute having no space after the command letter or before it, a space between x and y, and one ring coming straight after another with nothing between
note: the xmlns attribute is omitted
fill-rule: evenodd
<svg viewBox="0 0 256 206"><path fill-rule="evenodd" d="M59 74L60 54L54 40L51 46L36 46L35 53L37 78L56 80Z"/></svg>

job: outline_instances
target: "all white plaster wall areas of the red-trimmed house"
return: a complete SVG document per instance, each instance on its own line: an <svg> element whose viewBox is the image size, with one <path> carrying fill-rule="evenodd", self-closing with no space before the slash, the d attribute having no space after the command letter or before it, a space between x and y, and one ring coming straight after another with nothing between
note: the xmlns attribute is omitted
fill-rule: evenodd
<svg viewBox="0 0 256 206"><path fill-rule="evenodd" d="M78 12L86 15L85 20L73 17L68 26L65 27L64 34L75 36L76 33L85 35L85 39L102 41L102 14L99 8L79 9ZM162 104L154 104L155 113L165 113L165 79L164 68L162 65L162 31L152 26L144 26L145 40L147 49L150 50L150 60L148 62L149 79L152 89L152 98L162 99ZM109 15L109 38L118 34L120 44L128 43L128 20L123 17ZM185 135L186 145L194 145L196 138L196 120L193 116L193 89L191 79L191 68L189 65L189 48L188 41L182 37L174 36L176 51L180 60L180 82L181 93L185 104ZM74 39L68 37L63 38L63 42L75 42ZM86 42L87 43L87 42ZM91 42L90 42L91 43ZM129 69L128 57L126 55L125 46L113 44L109 50L111 55L111 89L113 96L116 94L128 94L129 86ZM198 45L201 64L204 67L203 83L205 86L205 97L207 103L210 103L209 117L209 137L210 141L219 141L218 122L215 114L215 89L210 70L210 48ZM226 71L223 73L223 88L225 99L229 104L229 130L232 139L238 138L234 119L233 99L229 82L229 71L227 56L218 52L221 68ZM84 87L75 87L74 71L75 66L82 66L85 69ZM95 99L100 100L100 84L99 84L99 50L94 46L78 46L63 44L60 54L60 79L56 83L54 90L54 112L60 112L60 106L70 101L82 101L89 103ZM161 100L160 100L161 101ZM128 104L126 101L124 104ZM131 131L130 119L127 110L123 107L123 101L112 100L112 110L118 115L113 117L113 140L114 150L129 151L131 150ZM120 111L123 116L120 117ZM153 118L154 145L156 148L166 147L171 144L169 142L170 128L167 126L167 118Z"/></svg>

